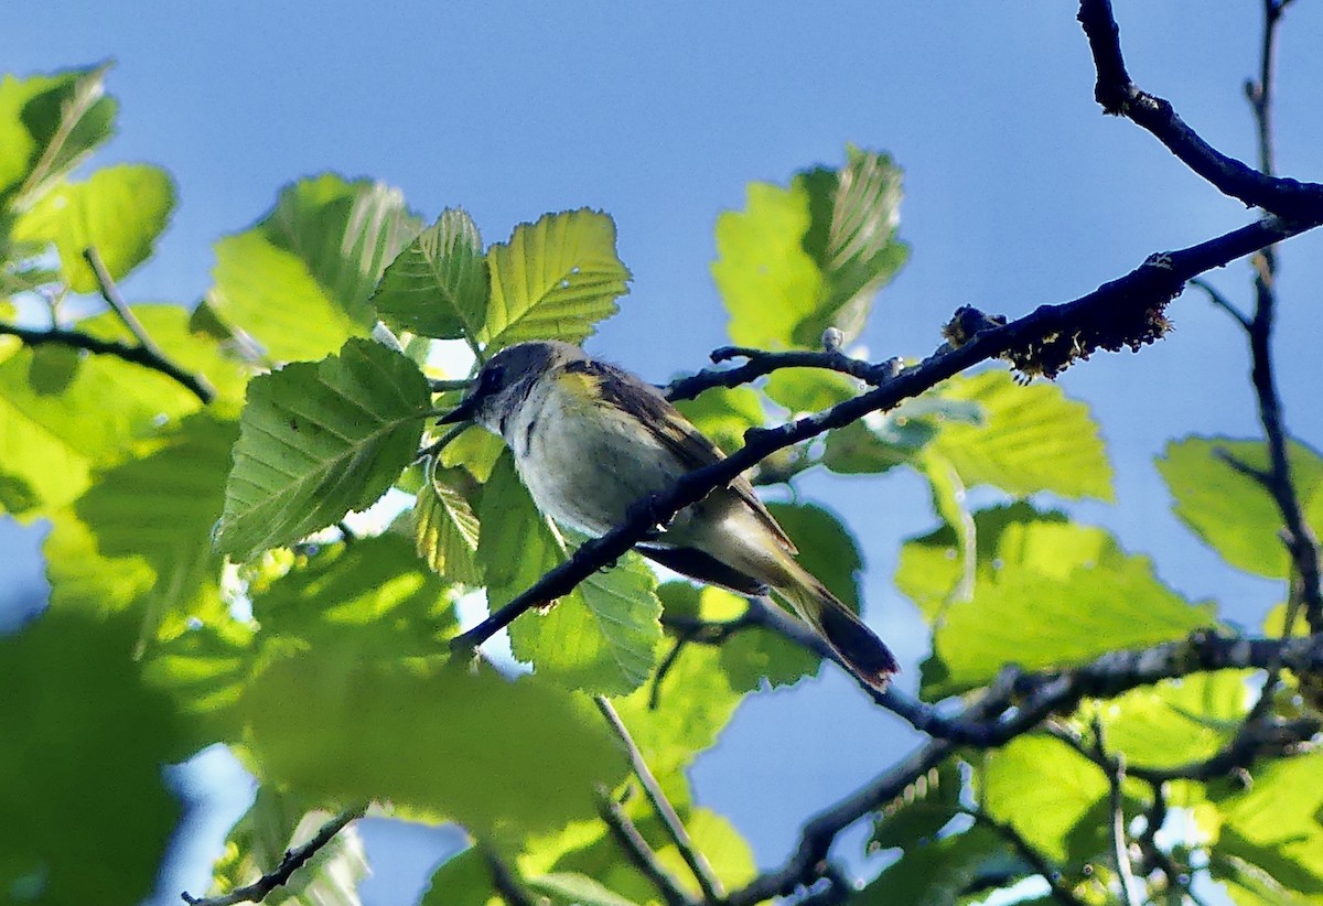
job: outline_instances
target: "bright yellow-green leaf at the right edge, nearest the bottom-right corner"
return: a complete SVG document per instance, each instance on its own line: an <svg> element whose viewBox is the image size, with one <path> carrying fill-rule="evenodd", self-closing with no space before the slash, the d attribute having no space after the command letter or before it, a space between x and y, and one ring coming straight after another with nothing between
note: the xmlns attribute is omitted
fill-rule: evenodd
<svg viewBox="0 0 1323 906"><path fill-rule="evenodd" d="M1263 763L1248 790L1209 788L1224 824L1215 852L1267 872L1289 890L1323 893L1323 751Z"/></svg>

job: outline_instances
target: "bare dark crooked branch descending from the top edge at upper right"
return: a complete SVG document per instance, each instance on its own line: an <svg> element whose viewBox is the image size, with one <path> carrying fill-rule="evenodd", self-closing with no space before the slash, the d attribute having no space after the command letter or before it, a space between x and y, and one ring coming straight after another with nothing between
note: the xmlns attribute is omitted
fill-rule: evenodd
<svg viewBox="0 0 1323 906"><path fill-rule="evenodd" d="M1323 220L1323 185L1259 173L1228 157L1189 128L1170 102L1142 91L1130 79L1110 0L1081 0L1078 19L1098 73L1094 98L1105 112L1126 116L1148 130L1183 164L1224 194L1282 217L1308 222Z"/></svg>

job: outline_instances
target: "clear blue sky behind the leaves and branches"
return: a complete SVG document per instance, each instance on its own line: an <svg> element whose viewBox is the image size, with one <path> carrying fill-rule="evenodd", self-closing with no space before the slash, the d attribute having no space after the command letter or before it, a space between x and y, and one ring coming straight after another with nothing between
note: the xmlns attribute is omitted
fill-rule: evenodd
<svg viewBox="0 0 1323 906"><path fill-rule="evenodd" d="M1259 3L1131 0L1117 15L1140 86L1252 159L1241 82L1257 67ZM1323 180L1320 45L1323 9L1293 7L1279 167L1312 180ZM889 151L906 173L901 234L913 255L877 300L864 337L875 357L931 352L960 304L1023 315L1250 218L1138 127L1101 114L1065 3L7 5L4 71L105 58L118 61L108 85L122 110L99 163L161 164L180 193L156 259L123 286L130 299L192 304L209 283L210 243L261 217L284 183L323 171L397 185L429 218L464 206L487 241L590 205L615 217L635 280L589 347L654 380L703 366L725 341L708 270L718 213L744 204L749 181L840 163L849 142ZM1248 276L1237 263L1215 280L1244 303ZM1286 417L1323 444L1319 286L1323 238L1285 246ZM1170 438L1257 436L1244 344L1197 294L1172 315L1176 331L1158 347L1101 354L1061 380L1101 421L1118 475L1115 505L1073 512L1151 553L1183 593L1253 615L1279 591L1220 567L1171 517L1152 468ZM806 488L863 540L868 619L913 665L925 636L889 577L898 540L931 526L922 487L811 476ZM12 587L34 574L21 553L34 537L0 521ZM914 741L828 676L754 697L693 779L773 864L804 816Z"/></svg>

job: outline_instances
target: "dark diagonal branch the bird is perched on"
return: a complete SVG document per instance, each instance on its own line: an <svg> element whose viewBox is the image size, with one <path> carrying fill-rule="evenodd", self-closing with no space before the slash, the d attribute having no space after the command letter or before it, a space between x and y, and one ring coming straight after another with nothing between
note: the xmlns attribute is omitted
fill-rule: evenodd
<svg viewBox="0 0 1323 906"><path fill-rule="evenodd" d="M935 354L919 365L902 370L881 386L826 411L777 429L749 431L742 450L718 463L689 472L664 493L640 500L619 526L601 538L585 542L573 557L546 573L501 610L451 639L451 651L472 649L531 607L569 594L589 575L623 557L655 525L668 522L685 507L703 500L714 488L729 484L737 475L778 450L849 425L871 411L893 409L901 401L916 397L982 361L1008 353L1029 357L1037 344L1058 343L1061 337L1072 336L1081 323L1106 320L1122 308L1166 304L1180 291L1185 280L1306 229L1310 227L1266 217L1215 239L1144 262L1130 274L1080 299L1043 306L1009 324L986 329L958 349Z"/></svg>

